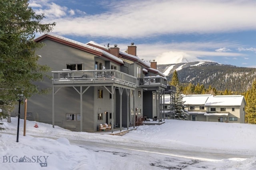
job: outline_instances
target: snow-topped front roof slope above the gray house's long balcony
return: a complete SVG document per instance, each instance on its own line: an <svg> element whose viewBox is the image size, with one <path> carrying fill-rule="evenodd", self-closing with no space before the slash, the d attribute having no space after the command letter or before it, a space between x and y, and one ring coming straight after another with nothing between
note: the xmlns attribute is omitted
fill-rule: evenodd
<svg viewBox="0 0 256 170"><path fill-rule="evenodd" d="M111 58L112 60L117 61L118 63L124 64L124 62L122 61L122 59L119 59L118 57L116 57L116 56L114 56L114 55L112 55L112 54L110 54L110 53L108 53L108 52L106 52L106 51L104 51L104 50L102 50L102 49L99 49L99 48L96 48L96 47L92 47L92 46L90 46L90 45L87 45L87 44L84 44L84 43L80 43L80 42L78 42L78 41L74 41L74 40L72 40L72 39L68 39L68 38L66 38L66 37L62 37L62 36L60 36L60 35L55 35L55 34L48 33L48 34L44 34L44 35L41 35L41 36L39 36L39 37L36 37L36 39L40 39L40 37L44 37L44 36L46 36L46 35L50 35L50 36L52 36L52 37L55 37L55 38L58 38L58 39L61 39L61 40L64 40L64 41L67 41L67 42L70 42L70 43L73 43L73 44L76 44L76 45L80 45L80 46L82 46L82 47L86 47L86 48L92 49L92 50L94 50L94 51L98 51L98 52L100 52L100 53L103 53L105 56ZM92 42L93 42L93 41L92 41Z"/></svg>

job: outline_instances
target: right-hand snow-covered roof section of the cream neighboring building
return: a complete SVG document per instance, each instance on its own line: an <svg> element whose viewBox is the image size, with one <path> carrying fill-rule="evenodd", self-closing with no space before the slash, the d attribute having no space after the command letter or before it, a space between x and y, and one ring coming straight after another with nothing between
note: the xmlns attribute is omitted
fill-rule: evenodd
<svg viewBox="0 0 256 170"><path fill-rule="evenodd" d="M204 106L241 106L246 104L242 95L210 96Z"/></svg>

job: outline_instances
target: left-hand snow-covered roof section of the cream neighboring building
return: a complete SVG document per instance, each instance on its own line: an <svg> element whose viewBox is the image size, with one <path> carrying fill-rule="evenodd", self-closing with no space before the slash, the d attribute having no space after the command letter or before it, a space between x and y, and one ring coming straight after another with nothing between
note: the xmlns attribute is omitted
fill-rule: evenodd
<svg viewBox="0 0 256 170"><path fill-rule="evenodd" d="M184 95L184 105L204 105L211 94Z"/></svg>

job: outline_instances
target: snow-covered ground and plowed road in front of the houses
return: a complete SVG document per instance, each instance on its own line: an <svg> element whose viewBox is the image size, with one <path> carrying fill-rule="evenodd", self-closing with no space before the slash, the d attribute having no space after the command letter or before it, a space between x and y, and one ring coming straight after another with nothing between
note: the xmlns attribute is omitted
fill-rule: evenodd
<svg viewBox="0 0 256 170"><path fill-rule="evenodd" d="M256 125L166 120L124 136L72 132L20 119L0 131L1 170L256 169ZM20 160L20 162L19 162Z"/></svg>

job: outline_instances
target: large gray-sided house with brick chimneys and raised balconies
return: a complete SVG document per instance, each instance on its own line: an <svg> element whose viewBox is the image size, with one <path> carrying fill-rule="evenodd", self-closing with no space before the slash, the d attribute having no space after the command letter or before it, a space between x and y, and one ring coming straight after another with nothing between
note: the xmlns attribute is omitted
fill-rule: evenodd
<svg viewBox="0 0 256 170"><path fill-rule="evenodd" d="M49 92L29 99L27 119L86 132L104 123L121 130L144 116L164 119L160 98L167 80L156 61L137 57L133 43L124 53L117 45L84 44L52 34L35 41L45 44L36 54L42 56L39 64L50 66L52 78L35 82Z"/></svg>

